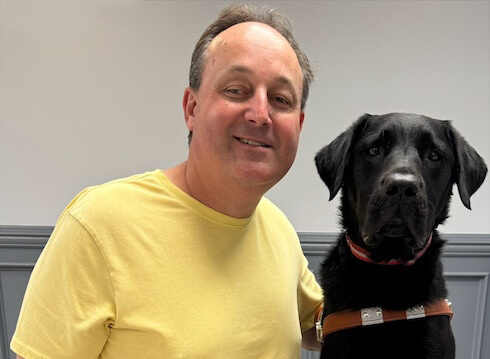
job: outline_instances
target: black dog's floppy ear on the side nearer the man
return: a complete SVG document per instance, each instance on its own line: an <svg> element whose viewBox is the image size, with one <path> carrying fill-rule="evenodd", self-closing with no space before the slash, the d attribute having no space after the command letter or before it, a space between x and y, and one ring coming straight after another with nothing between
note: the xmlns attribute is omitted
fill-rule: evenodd
<svg viewBox="0 0 490 359"><path fill-rule="evenodd" d="M350 159L352 140L371 115L360 117L351 127L341 133L330 144L323 147L315 156L315 164L323 182L330 191L331 201L339 192L344 181L345 170Z"/></svg>

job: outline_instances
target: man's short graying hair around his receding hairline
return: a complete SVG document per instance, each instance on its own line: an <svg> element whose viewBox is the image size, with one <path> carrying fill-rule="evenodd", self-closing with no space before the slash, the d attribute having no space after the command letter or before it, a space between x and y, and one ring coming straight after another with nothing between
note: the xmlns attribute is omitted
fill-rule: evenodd
<svg viewBox="0 0 490 359"><path fill-rule="evenodd" d="M222 31L242 22L260 22L277 30L289 42L293 48L303 75L303 90L301 95L301 110L306 106L310 84L314 79L313 71L306 54L300 49L293 37L292 27L289 19L268 6L253 6L249 4L231 4L226 6L218 18L208 26L192 53L191 68L189 71L189 86L199 90L202 81L202 72L206 62L209 45L213 39ZM192 132L189 133L189 142Z"/></svg>

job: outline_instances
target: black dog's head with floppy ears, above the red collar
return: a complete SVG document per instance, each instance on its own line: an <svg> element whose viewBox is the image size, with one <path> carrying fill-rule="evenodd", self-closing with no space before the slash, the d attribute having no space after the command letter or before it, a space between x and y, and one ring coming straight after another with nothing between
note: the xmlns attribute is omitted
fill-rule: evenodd
<svg viewBox="0 0 490 359"><path fill-rule="evenodd" d="M330 200L342 188L342 225L379 260L410 260L448 216L453 184L463 204L487 167L449 121L364 115L315 157Z"/></svg>

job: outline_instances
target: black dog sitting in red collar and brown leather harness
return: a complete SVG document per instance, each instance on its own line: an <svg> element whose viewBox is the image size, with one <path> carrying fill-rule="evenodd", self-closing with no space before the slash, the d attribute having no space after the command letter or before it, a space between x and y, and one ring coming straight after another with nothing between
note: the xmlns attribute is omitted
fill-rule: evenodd
<svg viewBox="0 0 490 359"><path fill-rule="evenodd" d="M450 122L393 113L362 116L315 162L330 199L342 188L344 228L321 266L323 331L333 330L321 358L454 358L436 228L453 184L470 208L482 158ZM347 325L327 322L335 316Z"/></svg>

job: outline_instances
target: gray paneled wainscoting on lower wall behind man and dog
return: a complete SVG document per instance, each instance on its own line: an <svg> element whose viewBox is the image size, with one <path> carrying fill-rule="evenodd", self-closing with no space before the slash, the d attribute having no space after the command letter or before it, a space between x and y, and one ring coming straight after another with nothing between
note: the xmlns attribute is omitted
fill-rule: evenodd
<svg viewBox="0 0 490 359"><path fill-rule="evenodd" d="M9 349L24 290L53 228L0 226L0 359L14 359ZM316 272L332 233L299 233L310 268ZM458 359L490 358L490 234L444 235L448 240L443 260ZM487 340L484 340L487 338ZM318 358L303 351L302 358Z"/></svg>

